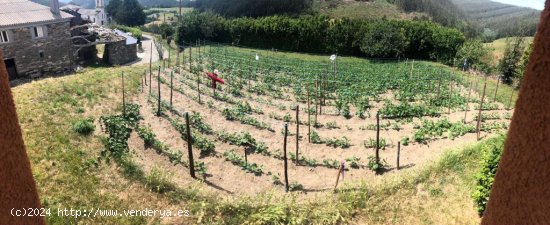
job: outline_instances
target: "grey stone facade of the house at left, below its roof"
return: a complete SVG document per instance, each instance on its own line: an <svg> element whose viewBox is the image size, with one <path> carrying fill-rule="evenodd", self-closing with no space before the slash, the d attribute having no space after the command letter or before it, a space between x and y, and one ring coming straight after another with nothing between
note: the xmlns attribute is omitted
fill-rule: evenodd
<svg viewBox="0 0 550 225"><path fill-rule="evenodd" d="M69 23L47 24L44 38L33 39L30 27L10 29L10 42L0 44L0 48L5 59L15 59L19 78L61 73L72 67Z"/></svg>

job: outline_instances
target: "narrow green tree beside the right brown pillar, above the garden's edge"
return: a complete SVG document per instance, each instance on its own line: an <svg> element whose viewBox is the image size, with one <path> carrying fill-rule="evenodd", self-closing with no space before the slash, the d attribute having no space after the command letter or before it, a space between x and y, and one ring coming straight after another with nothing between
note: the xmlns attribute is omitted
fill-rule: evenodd
<svg viewBox="0 0 550 225"><path fill-rule="evenodd" d="M505 84L512 84L512 81L518 77L519 62L524 48L523 42L523 38L507 40L504 57L499 62L502 82Z"/></svg>

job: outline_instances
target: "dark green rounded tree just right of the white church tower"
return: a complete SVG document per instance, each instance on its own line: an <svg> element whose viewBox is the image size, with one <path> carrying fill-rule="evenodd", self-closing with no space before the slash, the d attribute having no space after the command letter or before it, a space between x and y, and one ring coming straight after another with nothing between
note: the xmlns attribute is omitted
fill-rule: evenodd
<svg viewBox="0 0 550 225"><path fill-rule="evenodd" d="M115 21L126 26L145 24L145 13L137 0L124 0L115 11Z"/></svg>

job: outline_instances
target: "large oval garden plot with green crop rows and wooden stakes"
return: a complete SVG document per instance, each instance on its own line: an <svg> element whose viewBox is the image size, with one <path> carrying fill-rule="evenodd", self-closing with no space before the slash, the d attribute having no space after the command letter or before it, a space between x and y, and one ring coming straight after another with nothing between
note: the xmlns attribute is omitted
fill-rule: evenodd
<svg viewBox="0 0 550 225"><path fill-rule="evenodd" d="M259 61L244 51L227 51L213 47L191 64L146 76L148 86L136 100L144 116L140 126L149 127L168 153L146 146L144 135L132 134L131 149L145 169L162 168L182 186L193 180L185 165L184 112L193 118L198 179L228 194L284 192L285 124L290 189L305 193L332 190L341 162L347 168L345 183L398 173L398 144L401 169L409 170L450 147L478 140L482 94L471 89L479 84L428 63L365 60L364 66L336 68L275 56L268 58L273 62ZM191 71L185 65L192 65ZM307 74L308 68L324 75ZM226 81L215 92L205 76L214 69ZM483 105L481 137L505 131L512 111L493 102L490 93ZM374 160L377 130L381 169Z"/></svg>

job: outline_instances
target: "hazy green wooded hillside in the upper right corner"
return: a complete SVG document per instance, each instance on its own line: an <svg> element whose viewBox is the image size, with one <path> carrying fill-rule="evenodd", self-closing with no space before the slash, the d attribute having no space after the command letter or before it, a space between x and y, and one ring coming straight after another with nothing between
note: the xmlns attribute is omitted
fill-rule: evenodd
<svg viewBox="0 0 550 225"><path fill-rule="evenodd" d="M452 0L464 14L481 26L486 40L509 36L533 36L540 11L490 0Z"/></svg>

